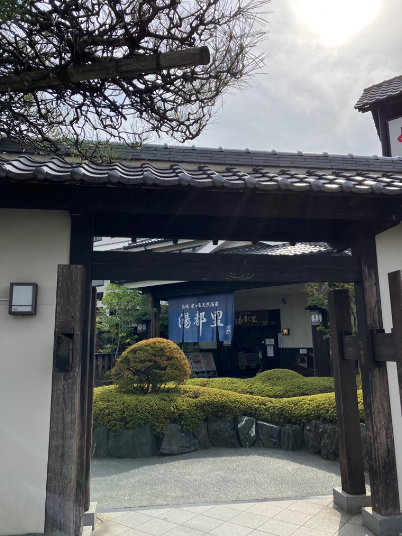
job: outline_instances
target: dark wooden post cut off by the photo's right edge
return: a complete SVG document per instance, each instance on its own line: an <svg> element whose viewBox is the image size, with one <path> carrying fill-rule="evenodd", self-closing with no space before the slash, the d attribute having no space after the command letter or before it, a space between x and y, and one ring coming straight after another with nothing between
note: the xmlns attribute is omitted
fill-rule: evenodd
<svg viewBox="0 0 402 536"><path fill-rule="evenodd" d="M402 404L402 270L389 273L388 282L391 298L394 355L398 371L399 397Z"/></svg>

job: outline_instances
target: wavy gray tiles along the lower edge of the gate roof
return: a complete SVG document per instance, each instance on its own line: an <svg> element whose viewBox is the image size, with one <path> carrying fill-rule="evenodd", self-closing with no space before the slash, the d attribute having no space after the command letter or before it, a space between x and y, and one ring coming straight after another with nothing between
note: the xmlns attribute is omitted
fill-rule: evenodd
<svg viewBox="0 0 402 536"><path fill-rule="evenodd" d="M389 168L385 165L385 162L389 161L393 161L394 167L383 173L384 168ZM43 162L22 155L13 160L0 158L0 181L155 184L163 187L181 185L183 188L224 187L340 193L352 191L360 194L402 195L402 161L389 158L385 159L385 162L382 159L381 162L382 168L375 168L375 173L373 169L371 171L367 169L367 166L356 172L340 169L339 160L338 166L332 172L306 169L306 167L302 168L302 172L299 171L300 167L297 172L288 167L282 168L279 172L272 172L269 168L257 166L245 173L235 166L227 166L225 170L219 171L207 165L187 169L177 161L167 167L157 166L156 162L128 166L121 161L105 165L83 163L72 166L57 158Z"/></svg>

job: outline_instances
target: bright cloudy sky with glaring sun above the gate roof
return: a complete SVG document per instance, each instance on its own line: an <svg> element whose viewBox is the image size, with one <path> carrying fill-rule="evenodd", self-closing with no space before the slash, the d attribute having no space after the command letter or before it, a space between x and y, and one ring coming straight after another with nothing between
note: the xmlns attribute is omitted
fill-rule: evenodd
<svg viewBox="0 0 402 536"><path fill-rule="evenodd" d="M271 0L266 11L264 72L184 145L381 155L371 113L354 105L402 74L401 0Z"/></svg>

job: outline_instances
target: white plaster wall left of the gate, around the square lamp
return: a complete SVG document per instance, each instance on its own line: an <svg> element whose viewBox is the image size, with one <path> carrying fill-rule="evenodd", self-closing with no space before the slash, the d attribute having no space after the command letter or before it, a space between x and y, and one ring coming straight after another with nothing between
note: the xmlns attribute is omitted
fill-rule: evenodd
<svg viewBox="0 0 402 536"><path fill-rule="evenodd" d="M69 264L68 212L0 210L0 298L38 283L36 316L0 300L0 535L43 533L57 265Z"/></svg>

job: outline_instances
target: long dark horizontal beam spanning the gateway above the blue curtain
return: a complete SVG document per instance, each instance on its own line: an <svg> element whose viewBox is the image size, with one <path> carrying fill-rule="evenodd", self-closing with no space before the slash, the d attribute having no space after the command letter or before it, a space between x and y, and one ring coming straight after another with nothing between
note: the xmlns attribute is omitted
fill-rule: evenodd
<svg viewBox="0 0 402 536"><path fill-rule="evenodd" d="M187 281L358 281L352 257L94 251L92 279Z"/></svg>

